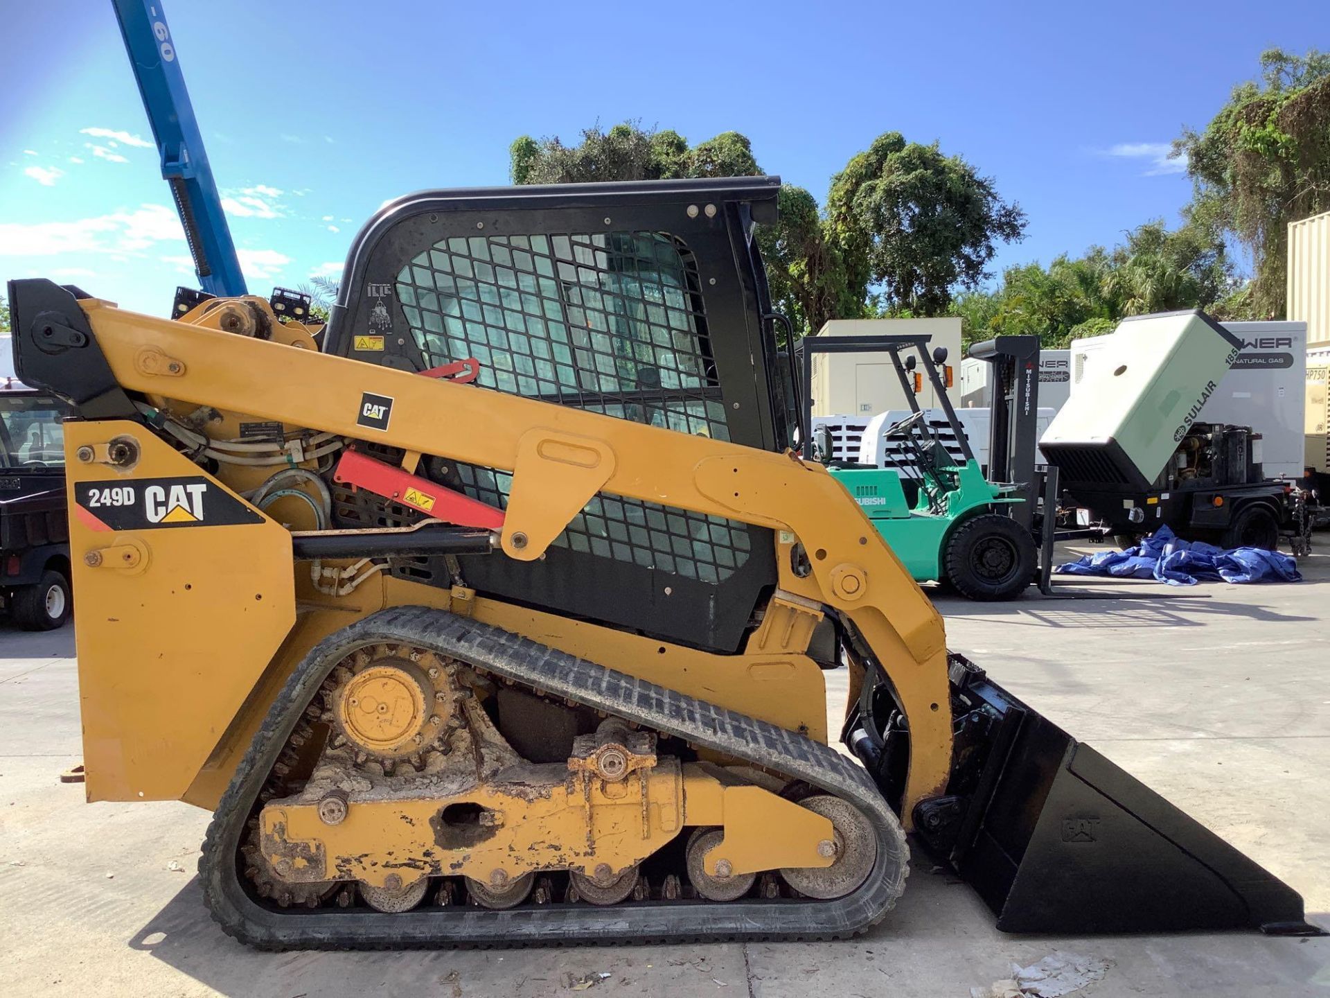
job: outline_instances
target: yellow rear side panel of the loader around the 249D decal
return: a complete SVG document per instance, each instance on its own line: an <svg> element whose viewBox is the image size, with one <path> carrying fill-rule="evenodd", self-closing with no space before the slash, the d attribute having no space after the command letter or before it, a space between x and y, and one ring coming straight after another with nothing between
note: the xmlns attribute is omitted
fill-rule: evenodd
<svg viewBox="0 0 1330 998"><path fill-rule="evenodd" d="M88 800L176 800L295 621L291 538L134 423L66 423L65 459Z"/></svg>

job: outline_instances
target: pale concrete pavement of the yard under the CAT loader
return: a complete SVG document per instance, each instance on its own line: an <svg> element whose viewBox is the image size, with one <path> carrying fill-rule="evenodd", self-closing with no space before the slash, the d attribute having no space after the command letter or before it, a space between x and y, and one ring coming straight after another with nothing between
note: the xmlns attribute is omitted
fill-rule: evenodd
<svg viewBox="0 0 1330 998"><path fill-rule="evenodd" d="M1302 585L1084 580L1012 604L942 600L950 644L1302 892L1330 926L1330 559ZM1117 593L1073 599L1072 593ZM1125 597L1124 597L1125 596ZM845 673L827 673L831 712ZM73 632L0 624L0 938L15 994L297 998L956 995L1056 953L1109 962L1079 994L1330 995L1330 941L1013 937L916 857L906 897L843 943L262 954L221 934L194 876L207 816L82 802Z"/></svg>

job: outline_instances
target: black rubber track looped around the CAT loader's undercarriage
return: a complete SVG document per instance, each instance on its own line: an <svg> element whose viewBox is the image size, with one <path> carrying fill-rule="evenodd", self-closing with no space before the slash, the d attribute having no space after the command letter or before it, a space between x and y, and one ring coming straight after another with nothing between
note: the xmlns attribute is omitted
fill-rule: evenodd
<svg viewBox="0 0 1330 998"><path fill-rule="evenodd" d="M871 821L878 836L876 864L858 890L833 901L626 901L606 908L529 905L508 912L458 905L422 906L402 914L366 908L270 909L251 898L241 882L235 860L245 822L323 679L348 652L383 641L438 651L843 797ZM297 667L217 806L198 870L217 922L259 949L835 939L866 930L891 909L904 890L908 852L900 822L867 773L829 745L467 617L398 607L330 635Z"/></svg>

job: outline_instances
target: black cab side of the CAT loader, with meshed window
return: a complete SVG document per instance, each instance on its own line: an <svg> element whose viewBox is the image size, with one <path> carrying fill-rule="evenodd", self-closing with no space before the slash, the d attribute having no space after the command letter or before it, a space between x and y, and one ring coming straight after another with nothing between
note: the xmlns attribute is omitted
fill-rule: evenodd
<svg viewBox="0 0 1330 998"><path fill-rule="evenodd" d="M778 189L750 177L402 198L356 237L325 349L415 371L473 357L481 387L778 450L789 430L750 249ZM507 503L504 472L427 458L423 474ZM414 516L363 495L336 511L343 526ZM481 592L722 652L775 583L770 531L610 495L540 562L460 563ZM444 559L395 571L452 583Z"/></svg>

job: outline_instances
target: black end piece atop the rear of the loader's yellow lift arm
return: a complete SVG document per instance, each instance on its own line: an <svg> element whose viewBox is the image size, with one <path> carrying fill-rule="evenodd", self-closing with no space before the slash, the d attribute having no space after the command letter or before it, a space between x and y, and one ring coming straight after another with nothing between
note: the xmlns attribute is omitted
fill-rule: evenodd
<svg viewBox="0 0 1330 998"><path fill-rule="evenodd" d="M137 419L73 291L44 278L9 282L19 379L52 391L85 419Z"/></svg>

